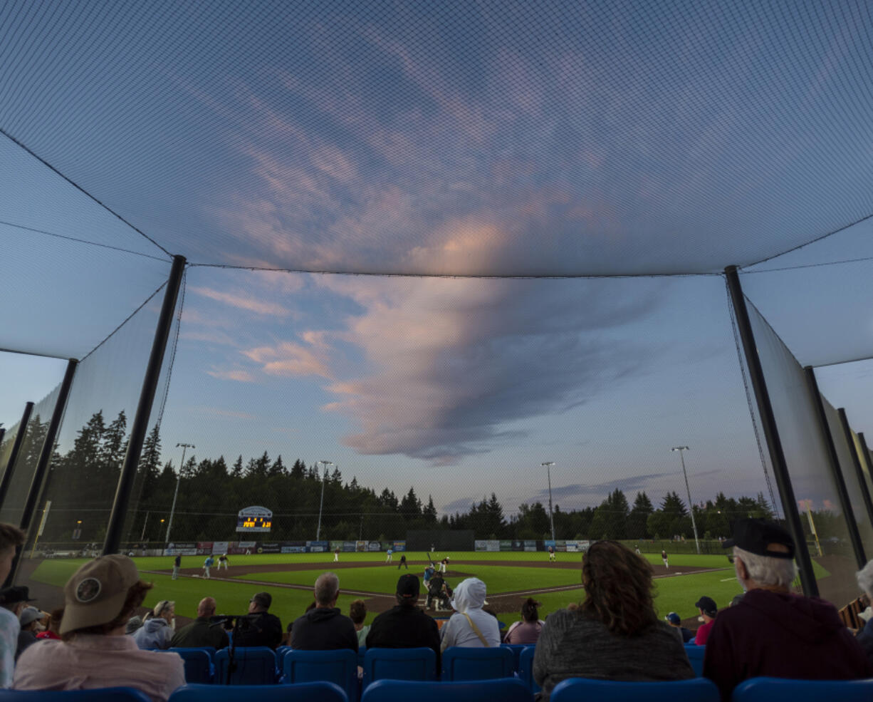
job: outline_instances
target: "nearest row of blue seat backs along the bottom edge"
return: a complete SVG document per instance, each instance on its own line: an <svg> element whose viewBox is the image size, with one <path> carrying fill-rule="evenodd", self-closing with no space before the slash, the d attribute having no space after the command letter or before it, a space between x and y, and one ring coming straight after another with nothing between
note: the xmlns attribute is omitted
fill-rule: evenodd
<svg viewBox="0 0 873 702"><path fill-rule="evenodd" d="M169 702L349 702L339 685L327 682L294 685L184 685ZM361 702L533 702L533 692L517 678L440 683L409 680L379 680L369 685ZM869 702L873 679L869 680L786 680L753 678L733 691L732 702ZM620 683L611 680L571 678L555 685L552 702L719 702L718 688L706 678L677 682ZM150 702L138 690L113 687L103 690L68 692L0 691L0 702Z"/></svg>

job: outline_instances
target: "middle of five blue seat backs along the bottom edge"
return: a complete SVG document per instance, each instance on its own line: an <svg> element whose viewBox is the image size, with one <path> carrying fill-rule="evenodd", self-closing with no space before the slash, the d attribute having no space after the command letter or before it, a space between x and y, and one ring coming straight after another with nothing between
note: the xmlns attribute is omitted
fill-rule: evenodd
<svg viewBox="0 0 873 702"><path fill-rule="evenodd" d="M518 678L429 683L377 680L368 685L361 702L533 702L533 694Z"/></svg>

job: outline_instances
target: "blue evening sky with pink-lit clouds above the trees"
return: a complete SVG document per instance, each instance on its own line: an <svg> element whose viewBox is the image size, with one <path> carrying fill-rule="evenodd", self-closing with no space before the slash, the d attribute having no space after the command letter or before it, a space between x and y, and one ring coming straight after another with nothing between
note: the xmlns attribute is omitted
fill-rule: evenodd
<svg viewBox="0 0 873 702"><path fill-rule="evenodd" d="M863 9L7 3L0 128L112 212L0 136L0 349L81 358L161 247L308 271L189 268L165 447L328 459L449 510L541 499L543 461L566 506L659 499L677 444L695 497L765 490L717 275L313 272L718 273L849 226L873 211ZM870 240L743 275L802 364L870 357ZM71 421L133 411L160 296ZM0 421L62 372L0 355ZM862 430L869 372L819 374Z"/></svg>

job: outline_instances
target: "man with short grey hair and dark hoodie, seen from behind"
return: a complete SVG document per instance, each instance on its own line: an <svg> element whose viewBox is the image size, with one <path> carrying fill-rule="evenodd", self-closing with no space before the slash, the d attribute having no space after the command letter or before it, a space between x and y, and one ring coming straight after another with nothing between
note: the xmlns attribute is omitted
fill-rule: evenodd
<svg viewBox="0 0 873 702"><path fill-rule="evenodd" d="M358 633L354 622L340 612L340 579L336 573L321 573L315 580L315 608L294 620L291 629L292 649L358 650Z"/></svg>

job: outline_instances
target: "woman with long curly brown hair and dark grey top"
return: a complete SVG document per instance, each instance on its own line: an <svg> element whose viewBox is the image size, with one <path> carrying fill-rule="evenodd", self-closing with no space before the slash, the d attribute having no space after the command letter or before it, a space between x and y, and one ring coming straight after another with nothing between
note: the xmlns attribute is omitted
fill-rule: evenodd
<svg viewBox="0 0 873 702"><path fill-rule="evenodd" d="M681 680L694 671L676 633L652 601L649 562L616 541L597 541L582 558L585 600L546 619L533 679L547 702L565 678Z"/></svg>

